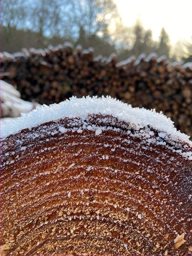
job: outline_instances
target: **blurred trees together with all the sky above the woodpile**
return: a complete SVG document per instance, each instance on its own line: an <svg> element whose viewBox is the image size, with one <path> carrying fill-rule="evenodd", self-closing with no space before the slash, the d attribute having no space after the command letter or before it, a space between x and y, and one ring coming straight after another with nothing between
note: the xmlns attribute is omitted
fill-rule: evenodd
<svg viewBox="0 0 192 256"><path fill-rule="evenodd" d="M118 60L157 52L192 61L191 1L2 0L1 51L70 41Z"/></svg>

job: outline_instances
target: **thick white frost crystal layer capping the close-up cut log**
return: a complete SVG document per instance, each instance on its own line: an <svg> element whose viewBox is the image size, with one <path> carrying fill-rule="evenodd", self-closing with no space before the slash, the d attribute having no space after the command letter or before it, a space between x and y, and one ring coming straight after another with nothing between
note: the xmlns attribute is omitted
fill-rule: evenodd
<svg viewBox="0 0 192 256"><path fill-rule="evenodd" d="M170 118L167 118L162 112L157 113L155 109L146 110L144 108L132 108L131 105L123 103L107 96L97 98L97 96L72 97L70 100L65 100L59 104L50 106L42 105L30 111L27 114L22 114L17 120L2 124L1 138L7 137L10 134L15 134L23 129L36 127L42 123L54 121L60 118L86 117L89 114L109 114L120 121L125 121L134 125L150 125L157 131L166 132L174 141L181 140L192 145L187 136L174 127Z"/></svg>

